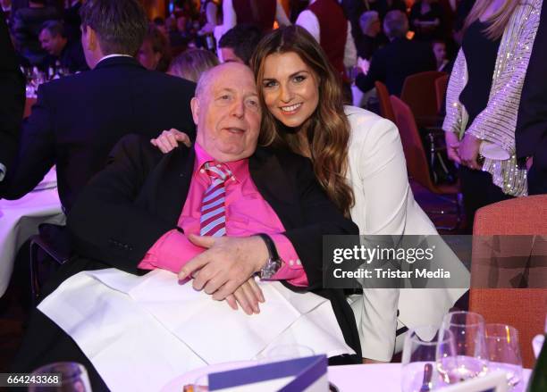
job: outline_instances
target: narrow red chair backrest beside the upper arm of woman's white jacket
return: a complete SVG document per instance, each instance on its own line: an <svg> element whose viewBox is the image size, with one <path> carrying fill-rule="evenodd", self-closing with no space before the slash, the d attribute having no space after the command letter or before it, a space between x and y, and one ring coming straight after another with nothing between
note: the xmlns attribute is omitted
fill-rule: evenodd
<svg viewBox="0 0 547 392"><path fill-rule="evenodd" d="M397 96L391 96L391 107L395 114L395 124L399 129L400 141L407 160L408 175L420 185L433 191L433 182L429 176L429 166L425 157L425 150L417 129L414 115L408 104Z"/></svg>

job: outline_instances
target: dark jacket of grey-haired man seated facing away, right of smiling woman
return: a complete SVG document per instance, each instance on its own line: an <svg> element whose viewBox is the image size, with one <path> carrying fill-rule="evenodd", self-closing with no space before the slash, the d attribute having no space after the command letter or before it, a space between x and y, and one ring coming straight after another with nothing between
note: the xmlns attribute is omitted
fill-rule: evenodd
<svg viewBox="0 0 547 392"><path fill-rule="evenodd" d="M391 95L400 96L408 76L418 72L436 71L436 67L431 46L406 38L396 38L373 54L368 73L359 74L355 84L366 92L374 88L375 81L381 81Z"/></svg>

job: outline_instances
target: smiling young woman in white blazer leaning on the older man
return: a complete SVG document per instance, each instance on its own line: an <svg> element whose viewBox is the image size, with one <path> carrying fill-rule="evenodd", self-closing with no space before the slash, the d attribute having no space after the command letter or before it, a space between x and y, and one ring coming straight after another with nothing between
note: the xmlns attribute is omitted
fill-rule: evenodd
<svg viewBox="0 0 547 392"><path fill-rule="evenodd" d="M397 128L343 106L340 80L306 29L274 30L258 44L251 64L264 109L261 143L309 157L327 195L361 234L437 233L408 185ZM164 152L176 146L170 132L154 143ZM364 288L363 295L351 296L363 356L389 362L398 330L439 324L464 291Z"/></svg>

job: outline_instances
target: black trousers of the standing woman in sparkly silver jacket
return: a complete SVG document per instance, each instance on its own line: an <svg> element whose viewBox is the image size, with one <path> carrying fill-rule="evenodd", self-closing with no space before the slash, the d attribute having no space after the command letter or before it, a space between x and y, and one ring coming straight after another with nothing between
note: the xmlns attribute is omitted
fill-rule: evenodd
<svg viewBox="0 0 547 392"><path fill-rule="evenodd" d="M469 233L473 230L476 210L484 207L484 205L513 198L513 196L504 194L500 187L494 185L492 175L489 172L475 171L467 168L467 166L460 165L459 180Z"/></svg>

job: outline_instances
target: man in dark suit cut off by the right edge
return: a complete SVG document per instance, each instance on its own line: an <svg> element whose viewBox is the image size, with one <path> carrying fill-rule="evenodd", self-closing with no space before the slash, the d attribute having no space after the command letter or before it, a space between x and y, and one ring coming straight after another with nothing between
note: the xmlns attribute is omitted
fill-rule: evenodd
<svg viewBox="0 0 547 392"><path fill-rule="evenodd" d="M526 160L528 194L547 194L547 4L543 4L518 108L518 159Z"/></svg>

